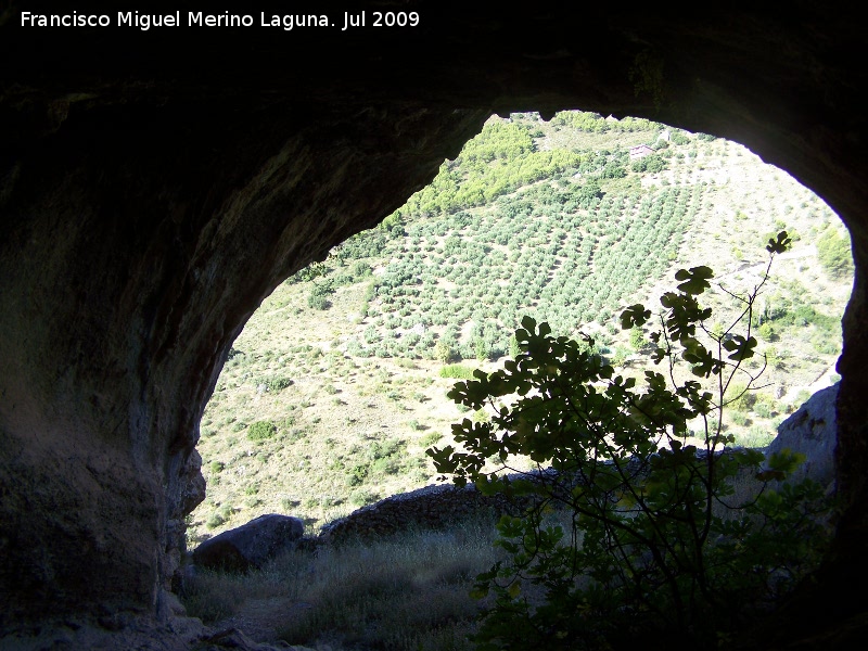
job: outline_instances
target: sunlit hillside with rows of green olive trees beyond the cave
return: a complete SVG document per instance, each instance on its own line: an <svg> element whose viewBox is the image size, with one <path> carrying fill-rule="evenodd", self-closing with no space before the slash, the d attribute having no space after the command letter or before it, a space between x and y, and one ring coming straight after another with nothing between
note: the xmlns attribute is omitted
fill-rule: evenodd
<svg viewBox="0 0 868 651"><path fill-rule="evenodd" d="M639 144L653 153L630 161ZM468 416L446 392L510 355L522 316L589 333L637 373L643 333L620 330L620 308L658 305L697 265L750 289L781 229L794 245L754 319L766 386L730 423L748 445L832 379L852 284L837 216L732 142L583 113L493 117L429 188L251 318L202 421L208 497L191 541L265 512L316 528L431 483L425 448Z"/></svg>

